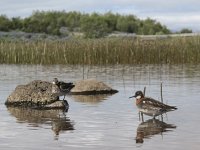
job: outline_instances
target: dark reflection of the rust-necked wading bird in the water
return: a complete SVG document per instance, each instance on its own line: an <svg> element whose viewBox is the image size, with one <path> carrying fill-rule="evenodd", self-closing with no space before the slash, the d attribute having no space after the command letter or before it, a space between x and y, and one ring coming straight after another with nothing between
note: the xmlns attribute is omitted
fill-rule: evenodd
<svg viewBox="0 0 200 150"><path fill-rule="evenodd" d="M136 143L143 143L144 138L150 138L156 134L173 131L175 125L167 124L158 119L150 119L139 124L137 128Z"/></svg>

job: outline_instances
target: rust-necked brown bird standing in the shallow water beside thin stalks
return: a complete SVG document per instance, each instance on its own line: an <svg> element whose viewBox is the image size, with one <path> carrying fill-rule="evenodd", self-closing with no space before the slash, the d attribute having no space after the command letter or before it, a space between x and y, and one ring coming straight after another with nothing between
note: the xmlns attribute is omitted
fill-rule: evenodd
<svg viewBox="0 0 200 150"><path fill-rule="evenodd" d="M154 119L156 116L177 109L176 106L166 105L153 98L145 97L142 91L135 92L135 95L129 98L132 97L136 98L136 106L138 107L139 111L145 115L153 116Z"/></svg>

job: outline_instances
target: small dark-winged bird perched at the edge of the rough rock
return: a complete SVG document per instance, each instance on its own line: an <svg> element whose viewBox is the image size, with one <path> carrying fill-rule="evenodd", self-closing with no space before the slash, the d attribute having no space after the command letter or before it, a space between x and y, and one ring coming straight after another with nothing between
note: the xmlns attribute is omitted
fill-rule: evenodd
<svg viewBox="0 0 200 150"><path fill-rule="evenodd" d="M64 96L63 100L65 99L65 95L75 86L72 82L58 81L57 78L53 79L52 84L52 93L56 96Z"/></svg>

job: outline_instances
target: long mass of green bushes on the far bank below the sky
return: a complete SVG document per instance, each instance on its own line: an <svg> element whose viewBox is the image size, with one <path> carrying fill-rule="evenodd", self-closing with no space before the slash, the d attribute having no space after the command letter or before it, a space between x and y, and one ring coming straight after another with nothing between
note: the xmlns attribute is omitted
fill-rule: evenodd
<svg viewBox="0 0 200 150"><path fill-rule="evenodd" d="M69 32L84 33L86 38L100 38L113 32L126 32L135 34L169 34L166 26L156 20L147 18L141 20L134 15L120 15L112 12L80 13L65 11L35 11L31 16L21 19L9 19L0 16L0 31L24 31L30 33L46 33L62 35L61 28Z"/></svg>

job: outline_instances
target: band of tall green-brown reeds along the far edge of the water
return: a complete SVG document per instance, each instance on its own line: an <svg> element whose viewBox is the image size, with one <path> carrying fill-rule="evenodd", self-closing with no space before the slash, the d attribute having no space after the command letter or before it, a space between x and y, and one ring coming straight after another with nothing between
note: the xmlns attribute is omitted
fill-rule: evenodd
<svg viewBox="0 0 200 150"><path fill-rule="evenodd" d="M200 37L0 40L1 64L184 64L200 63Z"/></svg>

